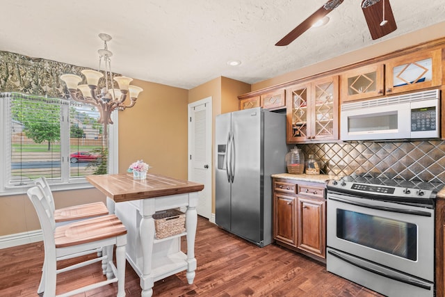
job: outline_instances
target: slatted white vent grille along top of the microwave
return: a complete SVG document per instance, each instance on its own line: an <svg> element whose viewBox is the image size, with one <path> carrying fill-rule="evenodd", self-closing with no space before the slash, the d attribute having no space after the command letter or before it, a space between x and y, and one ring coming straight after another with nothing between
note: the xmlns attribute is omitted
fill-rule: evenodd
<svg viewBox="0 0 445 297"><path fill-rule="evenodd" d="M439 90L426 90L423 92L371 99L360 102L343 103L341 104L341 111L366 109L375 106L389 106L393 104L409 103L428 99L439 99Z"/></svg>

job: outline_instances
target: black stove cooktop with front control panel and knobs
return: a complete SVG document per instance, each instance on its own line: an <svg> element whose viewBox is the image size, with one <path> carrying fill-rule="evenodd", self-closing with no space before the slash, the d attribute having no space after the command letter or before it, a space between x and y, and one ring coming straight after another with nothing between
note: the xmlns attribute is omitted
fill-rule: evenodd
<svg viewBox="0 0 445 297"><path fill-rule="evenodd" d="M442 183L387 179L370 175L350 175L339 180L330 180L327 191L346 193L360 198L402 202L403 204L435 204Z"/></svg>

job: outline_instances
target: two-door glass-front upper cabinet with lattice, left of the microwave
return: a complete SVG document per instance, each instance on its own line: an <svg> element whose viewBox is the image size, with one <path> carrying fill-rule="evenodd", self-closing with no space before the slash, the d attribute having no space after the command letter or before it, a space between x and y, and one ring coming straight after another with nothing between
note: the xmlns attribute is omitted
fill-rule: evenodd
<svg viewBox="0 0 445 297"><path fill-rule="evenodd" d="M339 138L339 77L325 77L286 90L287 142Z"/></svg>

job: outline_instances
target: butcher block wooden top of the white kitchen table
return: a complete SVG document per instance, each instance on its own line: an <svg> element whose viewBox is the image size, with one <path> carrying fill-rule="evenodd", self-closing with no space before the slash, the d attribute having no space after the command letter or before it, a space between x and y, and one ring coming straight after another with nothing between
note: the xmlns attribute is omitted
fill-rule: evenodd
<svg viewBox="0 0 445 297"><path fill-rule="evenodd" d="M125 202L166 195L202 191L203 184L147 173L147 179L133 179L133 174L88 175L88 182L115 202Z"/></svg>

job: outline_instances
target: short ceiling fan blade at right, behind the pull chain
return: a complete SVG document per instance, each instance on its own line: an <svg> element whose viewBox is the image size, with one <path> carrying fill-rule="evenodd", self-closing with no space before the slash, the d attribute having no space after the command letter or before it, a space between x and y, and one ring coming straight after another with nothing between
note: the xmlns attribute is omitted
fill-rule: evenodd
<svg viewBox="0 0 445 297"><path fill-rule="evenodd" d="M385 1L385 17L383 17L384 1ZM372 2L371 5L369 5L370 2ZM373 40L388 35L393 31L396 31L397 24L396 20L394 19L394 15L392 13L389 0L379 0L378 2L363 0L362 10L364 18L366 19L366 24L368 24L369 32L371 33L371 38L373 38ZM384 26L380 26L380 23L384 19L387 21L386 24Z"/></svg>

